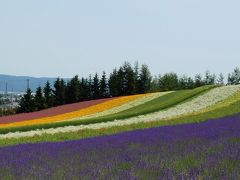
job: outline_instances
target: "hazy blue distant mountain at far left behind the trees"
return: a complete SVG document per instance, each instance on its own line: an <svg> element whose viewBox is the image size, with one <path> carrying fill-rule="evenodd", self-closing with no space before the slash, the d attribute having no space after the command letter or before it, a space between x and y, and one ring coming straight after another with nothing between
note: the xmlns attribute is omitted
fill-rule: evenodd
<svg viewBox="0 0 240 180"><path fill-rule="evenodd" d="M57 78L48 77L29 77L29 76L11 76L0 74L0 91L5 92L6 86L8 92L25 92L27 89L27 80L29 80L29 87L35 91L38 86L43 87L47 81L52 85Z"/></svg>

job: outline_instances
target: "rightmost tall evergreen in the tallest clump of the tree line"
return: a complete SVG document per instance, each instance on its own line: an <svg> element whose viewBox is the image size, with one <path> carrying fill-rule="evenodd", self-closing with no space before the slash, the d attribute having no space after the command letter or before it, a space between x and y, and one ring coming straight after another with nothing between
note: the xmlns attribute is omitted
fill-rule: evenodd
<svg viewBox="0 0 240 180"><path fill-rule="evenodd" d="M151 86L151 73L147 65L143 64L139 74L138 90L140 94L146 93Z"/></svg>

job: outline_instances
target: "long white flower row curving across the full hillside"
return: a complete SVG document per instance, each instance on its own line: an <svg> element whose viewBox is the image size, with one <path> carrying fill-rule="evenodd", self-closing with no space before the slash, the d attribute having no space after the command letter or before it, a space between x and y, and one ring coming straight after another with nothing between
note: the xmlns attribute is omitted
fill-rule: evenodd
<svg viewBox="0 0 240 180"><path fill-rule="evenodd" d="M0 135L0 139L6 138L21 138L21 137L33 137L36 135L43 134L56 134L56 133L66 133L66 132L76 132L84 129L101 129L113 126L125 126L130 124L135 124L139 122L151 122L158 120L167 120L181 115L186 115L192 112L196 112L207 107L213 106L214 104L225 100L236 92L240 91L240 85L235 86L223 86L214 88L203 95L200 95L190 101L176 105L175 107L169 108L167 110L141 115L125 120L115 120L111 122L103 122L89 125L79 125L79 126L66 126L51 129L39 129L32 130L28 132L13 132L5 135Z"/></svg>

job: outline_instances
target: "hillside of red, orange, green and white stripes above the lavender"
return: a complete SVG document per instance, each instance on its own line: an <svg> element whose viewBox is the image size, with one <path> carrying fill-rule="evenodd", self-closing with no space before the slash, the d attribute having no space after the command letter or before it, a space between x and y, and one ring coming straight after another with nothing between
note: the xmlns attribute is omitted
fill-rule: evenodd
<svg viewBox="0 0 240 180"><path fill-rule="evenodd" d="M169 122L171 124L172 120L176 118L201 115L227 105L235 107L234 103L238 103L239 94L239 85L203 86L193 90L149 93L92 101L89 106L84 106L87 102L65 105L35 113L2 117L0 119L0 133L2 134L0 139L32 137L42 134L54 135L115 126L125 127L150 122L164 124ZM71 106L75 106L75 108L71 109ZM233 108L229 112L226 108L223 112L225 114L222 116L239 111L240 109Z"/></svg>

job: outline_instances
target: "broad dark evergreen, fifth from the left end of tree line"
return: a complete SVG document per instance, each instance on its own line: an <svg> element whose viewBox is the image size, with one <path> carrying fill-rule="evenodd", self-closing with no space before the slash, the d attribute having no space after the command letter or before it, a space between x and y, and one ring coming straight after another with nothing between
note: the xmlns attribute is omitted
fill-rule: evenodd
<svg viewBox="0 0 240 180"><path fill-rule="evenodd" d="M66 100L67 103L76 103L79 102L80 97L80 81L78 75L76 75L67 83Z"/></svg>

